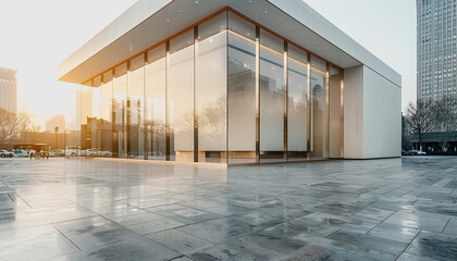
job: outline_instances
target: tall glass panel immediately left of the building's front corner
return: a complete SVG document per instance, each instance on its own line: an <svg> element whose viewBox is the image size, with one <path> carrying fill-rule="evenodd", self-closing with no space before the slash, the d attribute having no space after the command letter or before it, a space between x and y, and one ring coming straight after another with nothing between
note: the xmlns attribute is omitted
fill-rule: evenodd
<svg viewBox="0 0 457 261"><path fill-rule="evenodd" d="M226 33L219 33L198 42L196 105L198 154L202 162L225 162L226 158Z"/></svg>

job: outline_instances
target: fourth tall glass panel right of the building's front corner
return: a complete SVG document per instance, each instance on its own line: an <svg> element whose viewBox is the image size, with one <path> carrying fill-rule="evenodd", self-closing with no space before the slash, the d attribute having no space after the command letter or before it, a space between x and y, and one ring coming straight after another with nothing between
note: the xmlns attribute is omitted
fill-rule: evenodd
<svg viewBox="0 0 457 261"><path fill-rule="evenodd" d="M329 104L328 104L326 74L314 69L311 70L311 158L329 158Z"/></svg>

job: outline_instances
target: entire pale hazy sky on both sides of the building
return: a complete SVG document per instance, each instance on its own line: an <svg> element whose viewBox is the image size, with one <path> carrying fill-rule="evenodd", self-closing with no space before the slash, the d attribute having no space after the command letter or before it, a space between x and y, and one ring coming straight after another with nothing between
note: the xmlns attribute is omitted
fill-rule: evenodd
<svg viewBox="0 0 457 261"><path fill-rule="evenodd" d="M415 0L305 0L403 76L403 108L416 99ZM41 126L74 119L75 85L57 65L136 0L0 0L0 66L17 70L18 110Z"/></svg>

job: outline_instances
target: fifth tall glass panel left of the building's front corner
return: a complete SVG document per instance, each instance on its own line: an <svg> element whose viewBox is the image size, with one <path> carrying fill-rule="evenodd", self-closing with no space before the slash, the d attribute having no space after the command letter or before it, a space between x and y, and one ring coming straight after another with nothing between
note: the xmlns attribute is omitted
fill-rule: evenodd
<svg viewBox="0 0 457 261"><path fill-rule="evenodd" d="M113 79L113 157L127 157L127 72L126 64L115 70Z"/></svg>

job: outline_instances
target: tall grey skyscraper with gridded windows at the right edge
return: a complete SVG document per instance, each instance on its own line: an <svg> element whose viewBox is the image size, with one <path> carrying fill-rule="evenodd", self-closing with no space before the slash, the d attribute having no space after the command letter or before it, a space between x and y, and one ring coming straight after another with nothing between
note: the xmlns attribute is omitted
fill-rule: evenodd
<svg viewBox="0 0 457 261"><path fill-rule="evenodd" d="M418 99L457 97L457 0L417 0Z"/></svg>

